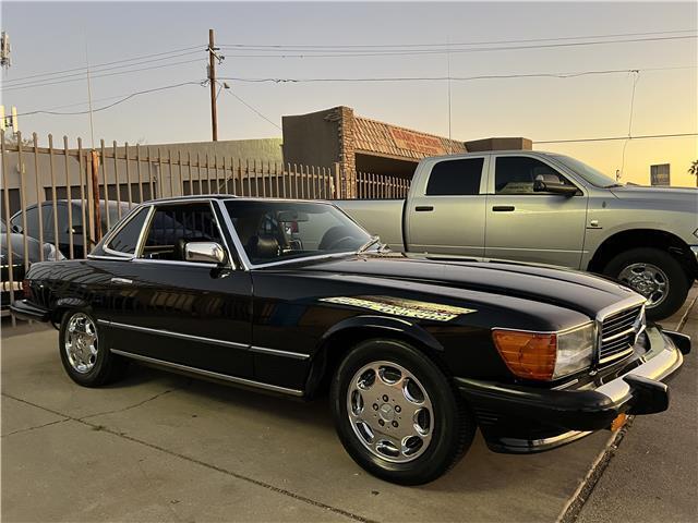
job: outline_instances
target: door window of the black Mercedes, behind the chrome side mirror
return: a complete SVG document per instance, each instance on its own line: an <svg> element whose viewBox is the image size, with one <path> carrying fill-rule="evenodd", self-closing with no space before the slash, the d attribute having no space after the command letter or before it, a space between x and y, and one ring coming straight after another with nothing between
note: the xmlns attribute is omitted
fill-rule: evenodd
<svg viewBox="0 0 698 523"><path fill-rule="evenodd" d="M216 218L208 203L156 207L141 256L184 262L186 242L222 244Z"/></svg>

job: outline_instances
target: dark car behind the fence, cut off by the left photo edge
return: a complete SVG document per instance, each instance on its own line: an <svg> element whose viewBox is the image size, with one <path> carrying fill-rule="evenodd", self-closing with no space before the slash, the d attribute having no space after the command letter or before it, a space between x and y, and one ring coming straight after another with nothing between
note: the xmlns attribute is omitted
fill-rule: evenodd
<svg viewBox="0 0 698 523"><path fill-rule="evenodd" d="M10 290L14 291L15 297L22 297L20 293L22 292L22 280L24 279L24 235L10 229L10 242L8 244L8 227L4 220L0 220L0 273L2 275L0 308L5 311L12 297ZM8 245L10 245L10 248L8 248ZM47 262L64 259L53 245L49 243L41 245L34 238L26 239L26 257L29 264L41 259ZM10 250L12 251L12 265L10 265ZM10 281L10 273L12 273L12 281Z"/></svg>

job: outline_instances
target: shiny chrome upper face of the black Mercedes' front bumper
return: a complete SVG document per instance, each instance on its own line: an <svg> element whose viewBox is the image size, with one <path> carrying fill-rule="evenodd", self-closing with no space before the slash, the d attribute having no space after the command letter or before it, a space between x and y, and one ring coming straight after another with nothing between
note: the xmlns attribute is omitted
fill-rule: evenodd
<svg viewBox="0 0 698 523"><path fill-rule="evenodd" d="M662 380L677 369L684 356L674 342L658 328L647 329L650 350L642 356L645 363L613 381L597 388L597 392L606 396L613 403L623 403L633 397L633 388L625 381L626 376L640 376Z"/></svg>

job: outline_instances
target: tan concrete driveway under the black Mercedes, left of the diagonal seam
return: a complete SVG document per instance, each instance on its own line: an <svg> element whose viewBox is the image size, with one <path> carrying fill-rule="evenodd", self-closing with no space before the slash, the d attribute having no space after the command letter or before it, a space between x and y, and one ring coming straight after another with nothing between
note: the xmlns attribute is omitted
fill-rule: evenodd
<svg viewBox="0 0 698 523"><path fill-rule="evenodd" d="M491 453L478 437L443 478L399 487L351 461L325 401L136 365L118 385L81 388L61 368L53 329L3 328L1 351L3 521L555 521L612 437L528 457ZM675 381L694 384L678 387L694 405L695 373L691 365ZM665 415L642 425L661 426ZM628 450L628 460L639 458Z"/></svg>

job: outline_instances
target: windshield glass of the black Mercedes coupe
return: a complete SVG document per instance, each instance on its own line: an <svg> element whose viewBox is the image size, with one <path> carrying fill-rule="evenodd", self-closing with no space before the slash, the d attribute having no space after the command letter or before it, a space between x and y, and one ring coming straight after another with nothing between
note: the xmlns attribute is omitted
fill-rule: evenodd
<svg viewBox="0 0 698 523"><path fill-rule="evenodd" d="M371 235L337 207L302 202L226 202L252 264L361 250ZM372 248L378 248L377 242Z"/></svg>

